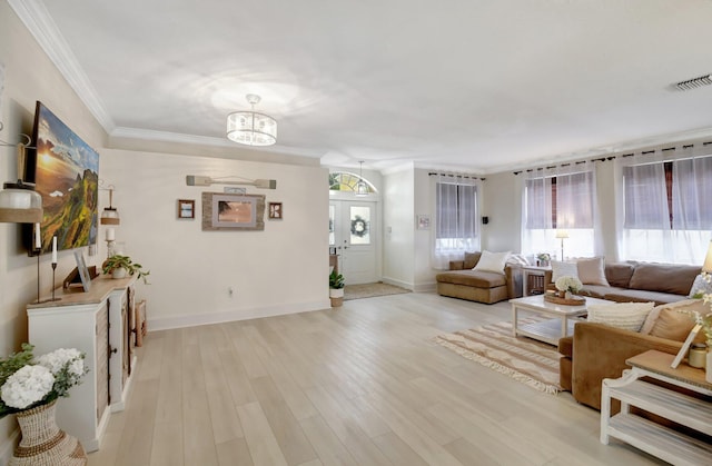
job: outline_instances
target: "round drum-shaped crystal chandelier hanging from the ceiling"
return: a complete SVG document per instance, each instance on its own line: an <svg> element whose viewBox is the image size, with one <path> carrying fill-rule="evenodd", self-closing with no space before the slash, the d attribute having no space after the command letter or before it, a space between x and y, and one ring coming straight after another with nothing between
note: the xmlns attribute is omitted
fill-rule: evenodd
<svg viewBox="0 0 712 466"><path fill-rule="evenodd" d="M255 111L255 105L261 100L259 96L248 93L245 97L253 109L235 111L227 116L227 138L246 146L274 145L277 142L277 121Z"/></svg>

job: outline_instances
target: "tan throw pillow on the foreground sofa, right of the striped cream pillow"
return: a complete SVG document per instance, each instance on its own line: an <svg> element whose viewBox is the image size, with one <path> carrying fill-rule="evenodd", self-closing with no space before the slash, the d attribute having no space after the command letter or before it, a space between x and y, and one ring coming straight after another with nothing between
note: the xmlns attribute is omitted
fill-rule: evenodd
<svg viewBox="0 0 712 466"><path fill-rule="evenodd" d="M702 299L685 299L656 306L645 319L641 334L669 340L684 341L694 327L694 318L690 313L708 313L708 305ZM695 341L704 341L704 333L700 331Z"/></svg>

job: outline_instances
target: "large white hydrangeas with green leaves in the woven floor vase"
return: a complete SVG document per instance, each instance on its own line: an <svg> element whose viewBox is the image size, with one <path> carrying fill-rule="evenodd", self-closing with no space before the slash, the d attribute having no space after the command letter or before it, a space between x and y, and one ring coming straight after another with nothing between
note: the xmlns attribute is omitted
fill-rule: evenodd
<svg viewBox="0 0 712 466"><path fill-rule="evenodd" d="M33 348L23 344L22 351L0 359L0 417L69 396L88 371L78 349L60 348L36 359Z"/></svg>

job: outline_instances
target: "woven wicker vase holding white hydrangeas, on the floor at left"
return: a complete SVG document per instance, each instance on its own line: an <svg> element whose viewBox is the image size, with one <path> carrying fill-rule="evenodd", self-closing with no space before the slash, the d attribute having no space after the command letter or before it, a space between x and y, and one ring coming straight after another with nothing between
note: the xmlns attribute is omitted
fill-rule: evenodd
<svg viewBox="0 0 712 466"><path fill-rule="evenodd" d="M22 432L10 466L86 465L87 454L81 444L57 427L57 400L17 414Z"/></svg>

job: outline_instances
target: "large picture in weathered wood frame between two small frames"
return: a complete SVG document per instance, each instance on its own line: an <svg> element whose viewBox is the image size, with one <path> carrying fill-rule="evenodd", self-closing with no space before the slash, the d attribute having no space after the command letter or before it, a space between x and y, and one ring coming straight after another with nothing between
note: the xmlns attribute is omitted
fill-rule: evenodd
<svg viewBox="0 0 712 466"><path fill-rule="evenodd" d="M265 196L202 194L202 230L264 230Z"/></svg>

